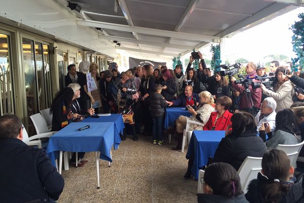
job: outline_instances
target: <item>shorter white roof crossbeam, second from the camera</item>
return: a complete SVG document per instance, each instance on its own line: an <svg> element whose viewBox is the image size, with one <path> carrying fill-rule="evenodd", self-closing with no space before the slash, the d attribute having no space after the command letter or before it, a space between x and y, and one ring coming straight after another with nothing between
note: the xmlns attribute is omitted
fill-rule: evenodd
<svg viewBox="0 0 304 203"><path fill-rule="evenodd" d="M105 39L105 40L115 40L120 42L130 42L135 44L146 44L146 45L152 45L152 46L158 46L158 47L168 47L168 48L175 48L175 49L193 49L192 46L186 46L186 45L176 45L176 44L168 44L168 43L160 43L160 42L149 42L149 41L141 41L141 40L135 40L131 38L122 38L122 37L116 37L116 36L104 36L99 35L99 38Z"/></svg>

